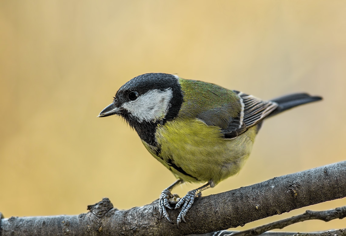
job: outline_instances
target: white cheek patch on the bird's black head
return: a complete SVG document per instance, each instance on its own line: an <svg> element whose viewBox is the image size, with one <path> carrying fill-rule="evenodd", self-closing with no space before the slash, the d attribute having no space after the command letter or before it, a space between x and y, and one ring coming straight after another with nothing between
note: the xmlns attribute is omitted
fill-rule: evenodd
<svg viewBox="0 0 346 236"><path fill-rule="evenodd" d="M140 95L135 101L122 104L128 112L142 121L156 121L166 116L173 97L171 88L153 89Z"/></svg>

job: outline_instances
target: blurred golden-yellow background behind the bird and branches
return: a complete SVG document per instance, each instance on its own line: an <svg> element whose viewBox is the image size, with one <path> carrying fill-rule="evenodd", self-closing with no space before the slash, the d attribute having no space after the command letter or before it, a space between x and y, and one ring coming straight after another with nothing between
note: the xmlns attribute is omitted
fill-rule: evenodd
<svg viewBox="0 0 346 236"><path fill-rule="evenodd" d="M265 100L292 92L324 97L266 121L243 170L204 195L345 160L345 12L343 0L1 0L0 211L80 214L103 197L119 209L157 199L174 176L119 117L97 118L122 84L149 72ZM346 199L242 229L342 205ZM309 221L283 231L345 223Z"/></svg>

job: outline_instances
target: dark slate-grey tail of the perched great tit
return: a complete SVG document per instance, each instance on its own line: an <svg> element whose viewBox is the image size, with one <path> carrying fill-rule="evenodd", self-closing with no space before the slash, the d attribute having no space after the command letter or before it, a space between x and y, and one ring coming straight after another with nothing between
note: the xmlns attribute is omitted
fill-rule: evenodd
<svg viewBox="0 0 346 236"><path fill-rule="evenodd" d="M299 106L299 105L310 103L310 102L316 102L320 100L322 100L322 97L311 96L307 93L295 93L295 94L278 97L271 101L276 102L277 104L279 104L279 106L267 117L271 117L273 115L279 114L280 112L286 111L295 106Z"/></svg>

